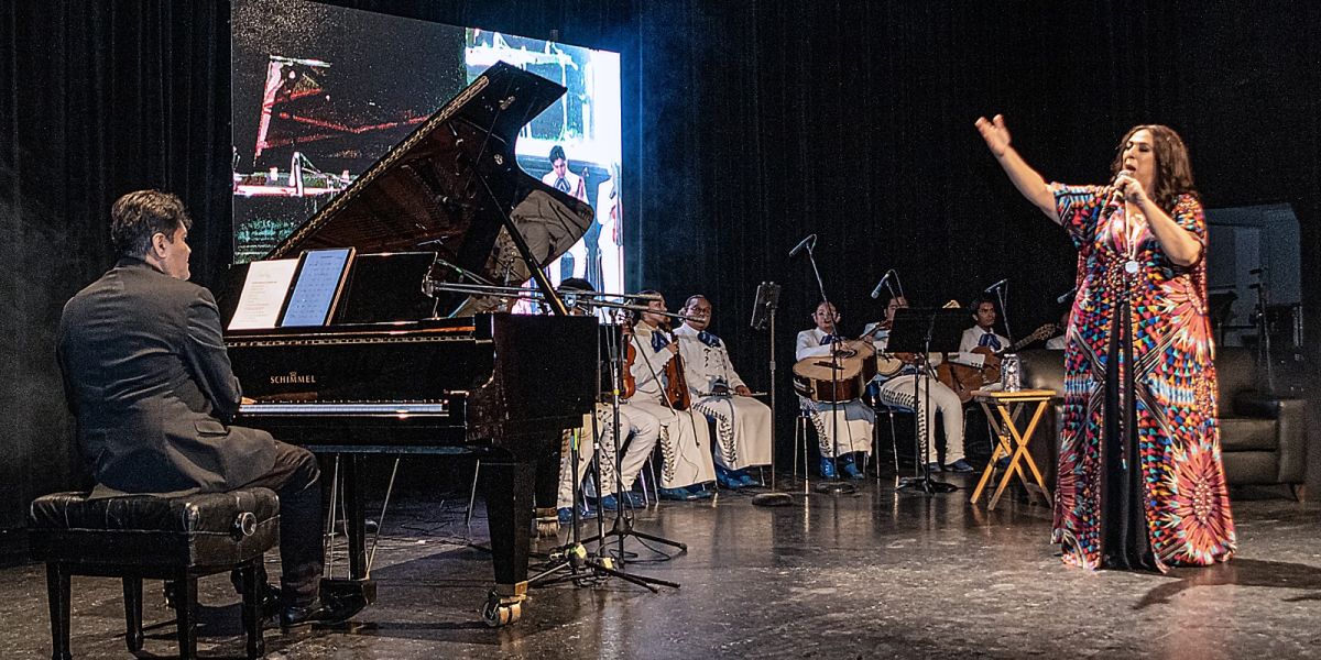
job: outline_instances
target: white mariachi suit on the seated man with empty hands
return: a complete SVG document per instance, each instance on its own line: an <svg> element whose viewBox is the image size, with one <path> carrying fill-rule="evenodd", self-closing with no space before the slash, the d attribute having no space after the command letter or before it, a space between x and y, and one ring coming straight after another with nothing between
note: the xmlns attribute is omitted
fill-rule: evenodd
<svg viewBox="0 0 1321 660"><path fill-rule="evenodd" d="M674 331L694 409L716 422L716 463L728 470L770 465L770 407L733 395L744 381L719 337L687 325ZM727 395L713 395L717 387Z"/></svg>

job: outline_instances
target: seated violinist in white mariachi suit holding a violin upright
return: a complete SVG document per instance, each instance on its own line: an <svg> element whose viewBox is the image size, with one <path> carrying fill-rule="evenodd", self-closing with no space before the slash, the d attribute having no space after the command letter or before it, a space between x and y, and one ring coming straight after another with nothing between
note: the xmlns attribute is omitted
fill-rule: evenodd
<svg viewBox="0 0 1321 660"><path fill-rule="evenodd" d="M637 392L629 399L629 407L641 408L660 420L660 496L675 500L711 498L713 492L705 484L716 480L716 469L711 459L707 418L692 409L676 409L666 397L666 367L679 354L679 346L664 330L668 322L664 298L653 290L642 293L655 298L645 300L647 312L633 326L630 341L637 356L630 374Z"/></svg>

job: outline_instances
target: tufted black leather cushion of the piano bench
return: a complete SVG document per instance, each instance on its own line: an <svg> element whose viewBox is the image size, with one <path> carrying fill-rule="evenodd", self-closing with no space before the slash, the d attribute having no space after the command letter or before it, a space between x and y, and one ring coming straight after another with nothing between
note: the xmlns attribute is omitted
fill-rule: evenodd
<svg viewBox="0 0 1321 660"><path fill-rule="evenodd" d="M255 517L243 536L235 521ZM125 495L87 499L86 492L38 498L28 511L37 561L95 566L232 566L279 543L280 500L269 488L178 498Z"/></svg>

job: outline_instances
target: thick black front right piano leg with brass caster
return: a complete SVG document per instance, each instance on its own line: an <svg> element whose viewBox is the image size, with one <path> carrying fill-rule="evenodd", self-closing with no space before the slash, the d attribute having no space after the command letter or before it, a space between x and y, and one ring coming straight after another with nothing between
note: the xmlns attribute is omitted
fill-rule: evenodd
<svg viewBox="0 0 1321 660"><path fill-rule="evenodd" d="M482 462L482 470L486 473L482 486L495 565L495 590L486 599L482 618L495 627L517 622L527 598L536 466L531 461L490 461Z"/></svg>

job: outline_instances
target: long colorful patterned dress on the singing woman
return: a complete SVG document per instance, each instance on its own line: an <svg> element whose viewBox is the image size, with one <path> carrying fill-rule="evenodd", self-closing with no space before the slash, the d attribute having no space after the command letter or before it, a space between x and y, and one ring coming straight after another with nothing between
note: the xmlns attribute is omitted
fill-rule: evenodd
<svg viewBox="0 0 1321 660"><path fill-rule="evenodd" d="M1166 570L1236 545L1215 420L1206 260L1169 260L1108 186L1052 183L1078 247L1052 543L1067 564ZM1193 195L1169 214L1206 249ZM1125 355L1132 355L1127 359ZM1139 463L1140 470L1127 467Z"/></svg>

